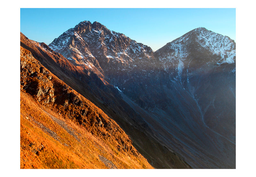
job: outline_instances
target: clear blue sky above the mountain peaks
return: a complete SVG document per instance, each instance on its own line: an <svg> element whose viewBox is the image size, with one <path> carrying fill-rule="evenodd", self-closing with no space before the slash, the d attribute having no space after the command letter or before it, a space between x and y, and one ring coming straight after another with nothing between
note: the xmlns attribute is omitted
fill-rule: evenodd
<svg viewBox="0 0 256 177"><path fill-rule="evenodd" d="M167 42L197 28L236 40L236 9L113 8L113 9L20 9L20 32L29 39L50 44L79 22L97 21L109 30L157 50Z"/></svg>

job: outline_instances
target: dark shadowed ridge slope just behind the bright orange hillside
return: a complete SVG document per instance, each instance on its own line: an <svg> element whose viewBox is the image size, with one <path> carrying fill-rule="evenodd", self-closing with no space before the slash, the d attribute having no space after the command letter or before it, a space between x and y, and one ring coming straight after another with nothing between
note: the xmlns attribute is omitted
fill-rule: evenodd
<svg viewBox="0 0 256 177"><path fill-rule="evenodd" d="M180 159L180 156L166 148L152 133L149 133L151 129L140 114L127 104L120 92L108 84L99 73L94 73L84 65L76 65L72 60L67 60L44 43L29 40L22 33L20 45L29 50L44 67L100 107L108 117L114 119L131 137L135 148L154 167L190 168L187 163Z"/></svg>

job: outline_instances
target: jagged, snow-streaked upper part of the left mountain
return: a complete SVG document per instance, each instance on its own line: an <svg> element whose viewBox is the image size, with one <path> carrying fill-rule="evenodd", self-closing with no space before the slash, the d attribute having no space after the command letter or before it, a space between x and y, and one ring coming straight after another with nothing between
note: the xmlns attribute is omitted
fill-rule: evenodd
<svg viewBox="0 0 256 177"><path fill-rule="evenodd" d="M49 46L73 63L104 75L116 73L116 70L128 72L137 66L146 67L148 60L154 61L150 47L122 33L110 31L96 21L80 22L54 39ZM151 67L154 63L156 61Z"/></svg>

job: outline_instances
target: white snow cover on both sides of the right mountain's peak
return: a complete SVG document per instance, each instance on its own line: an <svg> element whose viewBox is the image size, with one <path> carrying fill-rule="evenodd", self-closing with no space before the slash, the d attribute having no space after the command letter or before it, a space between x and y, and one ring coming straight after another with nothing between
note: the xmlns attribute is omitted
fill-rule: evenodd
<svg viewBox="0 0 256 177"><path fill-rule="evenodd" d="M196 33L194 33L196 32ZM186 51L186 45L189 43L190 35L196 34L196 41L205 49L209 50L211 53L216 54L221 57L217 64L222 63L234 63L236 58L236 44L232 42L227 36L209 31L203 27L197 28L192 32L188 32L167 43L166 49L167 54L160 55L160 60L172 62L174 60L180 62L188 55ZM158 51L159 52L159 51Z"/></svg>

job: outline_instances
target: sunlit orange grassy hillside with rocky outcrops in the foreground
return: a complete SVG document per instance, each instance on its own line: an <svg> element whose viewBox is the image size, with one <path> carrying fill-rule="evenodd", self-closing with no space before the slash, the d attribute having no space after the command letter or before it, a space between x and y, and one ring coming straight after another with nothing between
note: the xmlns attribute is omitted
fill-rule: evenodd
<svg viewBox="0 0 256 177"><path fill-rule="evenodd" d="M153 168L102 110L20 47L20 168Z"/></svg>

